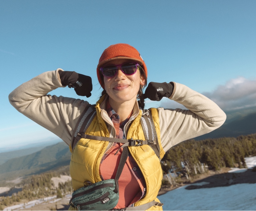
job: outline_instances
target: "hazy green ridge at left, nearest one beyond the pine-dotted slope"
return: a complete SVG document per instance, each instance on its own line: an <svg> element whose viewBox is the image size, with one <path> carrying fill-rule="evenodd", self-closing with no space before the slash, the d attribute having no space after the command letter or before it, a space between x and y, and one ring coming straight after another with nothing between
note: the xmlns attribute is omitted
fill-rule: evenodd
<svg viewBox="0 0 256 211"><path fill-rule="evenodd" d="M70 155L69 147L64 142L60 142L30 155L12 158L0 165L0 181L38 174L69 165Z"/></svg>

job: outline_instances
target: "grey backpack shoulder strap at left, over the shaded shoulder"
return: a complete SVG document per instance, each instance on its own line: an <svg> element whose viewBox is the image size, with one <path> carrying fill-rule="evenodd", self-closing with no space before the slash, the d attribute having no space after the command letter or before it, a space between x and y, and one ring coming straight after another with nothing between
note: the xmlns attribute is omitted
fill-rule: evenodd
<svg viewBox="0 0 256 211"><path fill-rule="evenodd" d="M74 129L74 133L72 135L72 141L71 141L71 148L74 149L77 141L81 138L77 134L83 133L87 130L90 123L92 122L94 116L96 115L96 108L95 105L88 104L82 114L79 117L79 120L77 121L77 124Z"/></svg>

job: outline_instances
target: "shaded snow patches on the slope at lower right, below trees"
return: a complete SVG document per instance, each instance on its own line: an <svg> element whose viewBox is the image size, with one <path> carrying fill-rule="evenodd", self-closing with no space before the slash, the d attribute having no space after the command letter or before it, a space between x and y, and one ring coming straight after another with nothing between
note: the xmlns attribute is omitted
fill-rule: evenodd
<svg viewBox="0 0 256 211"><path fill-rule="evenodd" d="M245 161L248 168L256 166L256 156L247 157ZM230 172L241 173L246 170L233 168ZM192 190L186 187L158 196L164 203L163 210L256 210L256 183Z"/></svg>

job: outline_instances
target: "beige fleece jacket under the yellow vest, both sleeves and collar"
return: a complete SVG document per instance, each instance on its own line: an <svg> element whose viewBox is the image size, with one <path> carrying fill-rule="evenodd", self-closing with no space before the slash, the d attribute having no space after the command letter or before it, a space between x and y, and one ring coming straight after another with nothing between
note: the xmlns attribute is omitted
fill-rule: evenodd
<svg viewBox="0 0 256 211"><path fill-rule="evenodd" d="M9 101L19 112L59 136L68 145L79 116L88 105L87 101L47 95L61 85L58 71L40 74L20 85L9 95ZM172 146L220 127L226 120L226 114L213 101L185 85L174 83L170 100L174 100L188 110L158 108L161 130L161 144L166 152ZM112 121L102 103L101 116L107 125ZM139 113L136 102L133 115Z"/></svg>

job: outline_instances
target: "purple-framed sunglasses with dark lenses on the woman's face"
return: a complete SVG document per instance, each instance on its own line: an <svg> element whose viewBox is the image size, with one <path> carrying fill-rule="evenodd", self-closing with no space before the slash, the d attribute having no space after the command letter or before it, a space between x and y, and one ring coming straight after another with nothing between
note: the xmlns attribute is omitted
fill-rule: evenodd
<svg viewBox="0 0 256 211"><path fill-rule="evenodd" d="M131 76L136 73L138 67L141 67L138 63L128 62L121 65L107 65L100 68L100 71L104 77L112 78L117 74L118 68L120 68L125 75Z"/></svg>

